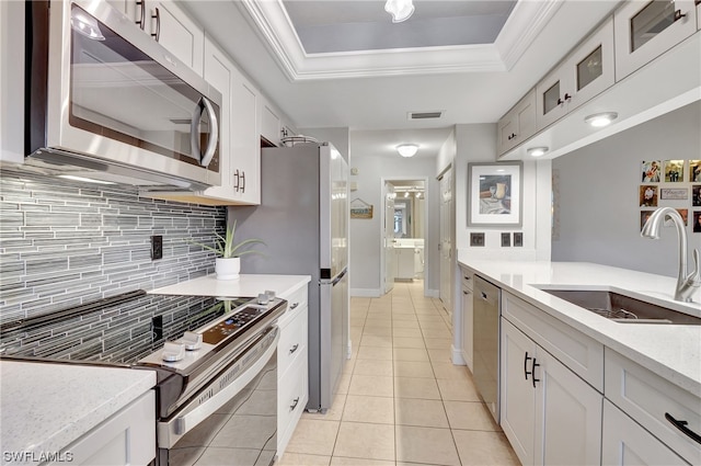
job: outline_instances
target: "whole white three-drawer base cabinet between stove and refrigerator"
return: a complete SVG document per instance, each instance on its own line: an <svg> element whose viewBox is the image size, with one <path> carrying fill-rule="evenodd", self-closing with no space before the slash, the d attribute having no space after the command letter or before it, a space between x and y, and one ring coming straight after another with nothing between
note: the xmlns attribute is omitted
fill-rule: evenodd
<svg viewBox="0 0 701 466"><path fill-rule="evenodd" d="M277 455L283 456L309 400L307 284L287 299L277 344Z"/></svg>

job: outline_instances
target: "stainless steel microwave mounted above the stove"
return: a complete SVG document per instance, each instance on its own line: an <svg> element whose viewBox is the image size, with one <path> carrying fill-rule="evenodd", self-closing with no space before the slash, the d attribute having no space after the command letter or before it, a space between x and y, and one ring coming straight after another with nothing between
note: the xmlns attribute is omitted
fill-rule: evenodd
<svg viewBox="0 0 701 466"><path fill-rule="evenodd" d="M147 190L220 183L219 91L104 0L25 5L25 166Z"/></svg>

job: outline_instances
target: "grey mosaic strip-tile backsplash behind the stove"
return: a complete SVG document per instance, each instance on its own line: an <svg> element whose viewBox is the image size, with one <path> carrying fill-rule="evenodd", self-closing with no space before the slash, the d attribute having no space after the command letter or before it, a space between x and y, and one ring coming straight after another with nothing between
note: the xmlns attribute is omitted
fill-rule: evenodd
<svg viewBox="0 0 701 466"><path fill-rule="evenodd" d="M214 253L188 240L212 245L225 227L225 207L0 170L0 320L212 273Z"/></svg>

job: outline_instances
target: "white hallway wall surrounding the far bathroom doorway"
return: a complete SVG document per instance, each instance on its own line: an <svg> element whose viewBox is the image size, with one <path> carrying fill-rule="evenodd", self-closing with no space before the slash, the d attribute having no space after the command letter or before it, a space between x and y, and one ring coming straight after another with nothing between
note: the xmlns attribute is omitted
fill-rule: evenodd
<svg viewBox="0 0 701 466"><path fill-rule="evenodd" d="M350 167L358 170L350 175L357 183L357 191L350 192L350 201L356 197L372 204L371 219L350 219L350 294L355 296L380 296L382 288L382 179L411 180L426 178L426 238L425 251L426 287L438 289L438 183L436 181L436 158L372 157L354 154Z"/></svg>

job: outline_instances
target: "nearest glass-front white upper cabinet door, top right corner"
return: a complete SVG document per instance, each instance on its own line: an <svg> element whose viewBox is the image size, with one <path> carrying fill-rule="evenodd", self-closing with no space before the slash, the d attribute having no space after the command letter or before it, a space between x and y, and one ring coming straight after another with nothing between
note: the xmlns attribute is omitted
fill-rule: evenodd
<svg viewBox="0 0 701 466"><path fill-rule="evenodd" d="M613 13L620 80L697 31L694 0L630 1Z"/></svg>

